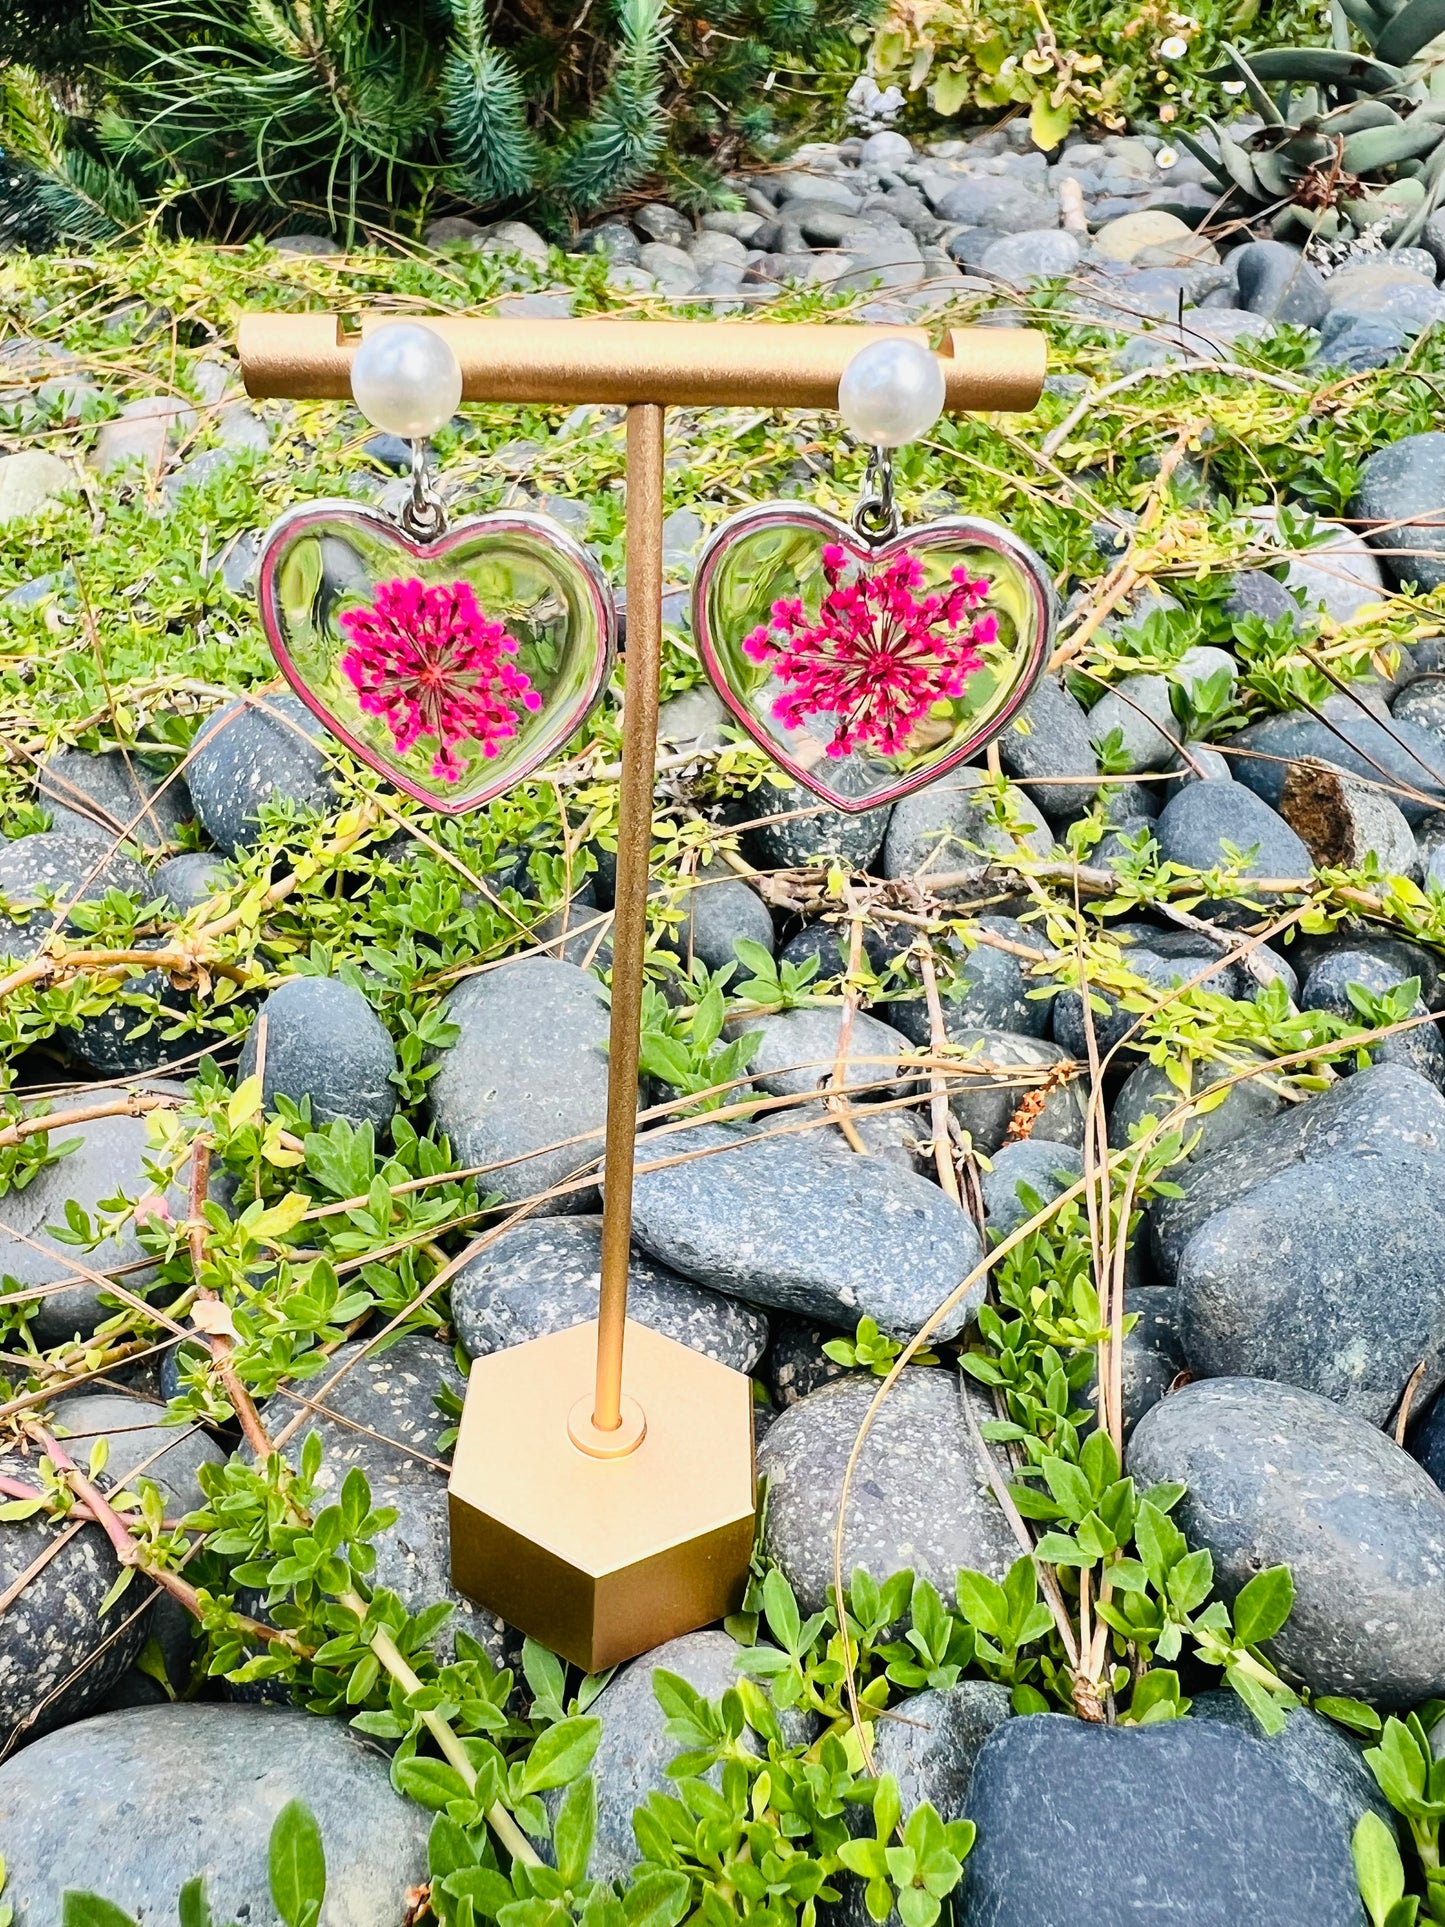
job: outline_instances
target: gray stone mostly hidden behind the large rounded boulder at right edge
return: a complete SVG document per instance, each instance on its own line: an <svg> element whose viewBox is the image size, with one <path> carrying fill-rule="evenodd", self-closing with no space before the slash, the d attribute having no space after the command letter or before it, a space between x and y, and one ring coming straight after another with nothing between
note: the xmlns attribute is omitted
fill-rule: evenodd
<svg viewBox="0 0 1445 1927"><path fill-rule="evenodd" d="M1401 1064L1376 1064L1250 1125L1210 1156L1173 1168L1169 1175L1183 1197L1156 1199L1148 1208L1162 1280L1173 1283L1185 1245L1208 1218L1295 1164L1337 1154L1439 1156L1443 1148L1439 1091Z"/></svg>

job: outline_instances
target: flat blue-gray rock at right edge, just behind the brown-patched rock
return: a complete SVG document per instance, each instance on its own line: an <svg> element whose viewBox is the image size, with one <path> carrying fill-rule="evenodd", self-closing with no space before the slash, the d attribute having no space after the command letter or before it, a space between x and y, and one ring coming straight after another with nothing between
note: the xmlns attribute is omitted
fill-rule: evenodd
<svg viewBox="0 0 1445 1927"><path fill-rule="evenodd" d="M1320 703L1324 721L1304 709L1250 723L1231 738L1239 782L1279 807L1289 763L1314 757L1387 790L1406 823L1418 823L1445 802L1445 748L1403 717L1389 728L1349 696Z"/></svg>

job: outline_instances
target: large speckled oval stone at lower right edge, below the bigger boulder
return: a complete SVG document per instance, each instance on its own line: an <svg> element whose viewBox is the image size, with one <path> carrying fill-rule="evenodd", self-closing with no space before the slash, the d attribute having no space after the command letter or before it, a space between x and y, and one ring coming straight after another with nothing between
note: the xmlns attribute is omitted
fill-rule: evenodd
<svg viewBox="0 0 1445 1927"><path fill-rule="evenodd" d="M1297 1386L1198 1380L1141 1420L1129 1472L1187 1486L1175 1520L1225 1599L1289 1567L1268 1650L1310 1692L1401 1707L1445 1688L1445 1493L1364 1418Z"/></svg>

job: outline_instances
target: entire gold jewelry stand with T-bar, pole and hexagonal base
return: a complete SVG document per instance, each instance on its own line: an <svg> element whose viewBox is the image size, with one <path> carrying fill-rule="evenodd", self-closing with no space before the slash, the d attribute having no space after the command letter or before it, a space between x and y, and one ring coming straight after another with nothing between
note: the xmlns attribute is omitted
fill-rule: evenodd
<svg viewBox="0 0 1445 1927"><path fill-rule="evenodd" d="M366 314L347 328L331 314L247 314L247 393L347 401L356 345L407 318ZM865 341L906 335L927 347L929 335L844 324L424 320L457 353L464 401L628 410L626 707L597 1326L478 1359L451 1472L459 1590L597 1673L738 1607L755 1505L749 1380L626 1316L663 657L663 418L669 407L836 409L838 382ZM1040 333L959 328L944 335L938 358L950 410L1027 410L1038 401Z"/></svg>

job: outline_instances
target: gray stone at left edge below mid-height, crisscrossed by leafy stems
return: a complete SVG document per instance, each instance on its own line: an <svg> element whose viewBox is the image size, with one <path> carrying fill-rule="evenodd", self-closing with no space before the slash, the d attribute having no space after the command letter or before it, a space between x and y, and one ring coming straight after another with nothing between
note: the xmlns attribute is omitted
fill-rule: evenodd
<svg viewBox="0 0 1445 1927"><path fill-rule="evenodd" d="M143 1089L170 1089L168 1085L146 1083ZM121 1226L112 1237L102 1239L94 1251L77 1251L75 1245L62 1245L50 1237L46 1226L66 1222L66 1201L73 1199L85 1210L94 1212L102 1199L123 1193L139 1199L150 1189L144 1172L146 1160L146 1120L144 1118L92 1118L89 1123L75 1123L66 1129L62 1143L79 1139L58 1164L48 1164L23 1191L12 1191L0 1202L0 1274L10 1274L21 1285L69 1283L60 1291L48 1291L31 1320L37 1343L58 1345L67 1337L89 1337L102 1318L112 1316L100 1305L100 1285L92 1278L81 1276L75 1266L87 1272L118 1272L123 1268L129 1291L144 1295L154 1272L137 1268L144 1258L141 1241L131 1224ZM168 1204L173 1218L185 1216L185 1187L171 1185Z"/></svg>

